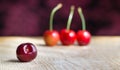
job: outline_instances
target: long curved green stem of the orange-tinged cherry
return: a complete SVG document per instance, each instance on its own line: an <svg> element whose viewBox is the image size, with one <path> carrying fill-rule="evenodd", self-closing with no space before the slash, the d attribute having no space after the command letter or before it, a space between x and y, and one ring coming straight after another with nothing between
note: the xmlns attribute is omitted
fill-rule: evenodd
<svg viewBox="0 0 120 70"><path fill-rule="evenodd" d="M58 11L62 7L62 4L59 3L55 8L53 8L51 14L50 14L50 27L49 29L52 31L53 30L53 17L56 11Z"/></svg>

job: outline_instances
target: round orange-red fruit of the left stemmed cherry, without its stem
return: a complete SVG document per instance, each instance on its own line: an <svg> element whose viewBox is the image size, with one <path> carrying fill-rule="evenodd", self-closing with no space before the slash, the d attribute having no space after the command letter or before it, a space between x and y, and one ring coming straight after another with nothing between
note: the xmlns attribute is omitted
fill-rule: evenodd
<svg viewBox="0 0 120 70"><path fill-rule="evenodd" d="M60 37L59 37L59 33L56 30L47 30L44 35L44 41L46 43L47 46L54 46L58 43Z"/></svg>

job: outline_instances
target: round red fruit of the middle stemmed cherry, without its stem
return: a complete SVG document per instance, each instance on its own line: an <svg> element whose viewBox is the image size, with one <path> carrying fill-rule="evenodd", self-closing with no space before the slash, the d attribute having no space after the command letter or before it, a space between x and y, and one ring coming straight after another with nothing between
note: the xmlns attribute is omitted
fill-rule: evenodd
<svg viewBox="0 0 120 70"><path fill-rule="evenodd" d="M60 40L63 45L72 45L76 40L76 34L73 30L63 29L60 31Z"/></svg>

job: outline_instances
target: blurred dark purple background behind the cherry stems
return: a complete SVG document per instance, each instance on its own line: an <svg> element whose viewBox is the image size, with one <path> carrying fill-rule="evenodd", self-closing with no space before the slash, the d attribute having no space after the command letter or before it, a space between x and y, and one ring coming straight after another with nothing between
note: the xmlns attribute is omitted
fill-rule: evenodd
<svg viewBox="0 0 120 70"><path fill-rule="evenodd" d="M120 35L120 0L0 0L0 36L42 36L49 29L51 10L60 2L55 30L66 27L70 6L75 5L71 29L81 29L80 6L92 35Z"/></svg>

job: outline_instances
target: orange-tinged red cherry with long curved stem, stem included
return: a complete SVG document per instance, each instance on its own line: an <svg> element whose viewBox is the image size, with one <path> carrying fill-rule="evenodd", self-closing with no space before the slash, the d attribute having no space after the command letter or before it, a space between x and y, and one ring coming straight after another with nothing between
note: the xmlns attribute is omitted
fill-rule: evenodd
<svg viewBox="0 0 120 70"><path fill-rule="evenodd" d="M59 3L55 8L53 8L51 15L50 15L50 27L49 30L45 31L43 38L45 41L45 44L47 46L54 46L58 43L60 36L59 32L56 30L53 30L53 16L57 10L59 10L62 7L62 4Z"/></svg>

